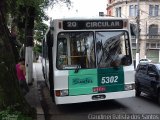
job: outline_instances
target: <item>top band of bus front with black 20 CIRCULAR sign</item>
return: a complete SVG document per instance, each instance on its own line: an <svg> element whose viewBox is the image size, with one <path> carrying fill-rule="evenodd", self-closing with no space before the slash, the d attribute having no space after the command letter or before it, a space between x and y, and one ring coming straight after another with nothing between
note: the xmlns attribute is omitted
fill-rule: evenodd
<svg viewBox="0 0 160 120"><path fill-rule="evenodd" d="M53 19L50 26L56 25L60 29L63 27L63 30L123 29L128 23L128 19L121 17L70 17Z"/></svg>

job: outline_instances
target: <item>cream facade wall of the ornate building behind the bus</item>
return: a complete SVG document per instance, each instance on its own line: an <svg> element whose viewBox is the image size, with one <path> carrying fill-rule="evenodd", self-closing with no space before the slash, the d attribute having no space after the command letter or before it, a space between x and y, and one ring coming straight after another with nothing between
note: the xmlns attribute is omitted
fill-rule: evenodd
<svg viewBox="0 0 160 120"><path fill-rule="evenodd" d="M140 58L144 58L147 56L151 56L150 54L153 53L153 51L158 52L160 50L160 0L139 0L140 1ZM130 16L130 5L136 6L137 0L108 0L108 6L107 6L107 13L108 11L112 11L111 16L116 16L116 9L121 7L121 17L123 18L129 18L130 23L135 24L137 23L136 16ZM151 17L149 15L149 5L159 5L159 11L158 16ZM149 34L149 26L150 25L158 25L158 34L156 36L150 36ZM132 37L132 49L135 53L136 49L136 38ZM155 46L153 45L155 44ZM152 51L152 52L151 52ZM157 55L157 54L155 54ZM154 62L159 62L159 54L156 56L158 57L158 60L156 58L153 58ZM135 56L134 56L135 58Z"/></svg>

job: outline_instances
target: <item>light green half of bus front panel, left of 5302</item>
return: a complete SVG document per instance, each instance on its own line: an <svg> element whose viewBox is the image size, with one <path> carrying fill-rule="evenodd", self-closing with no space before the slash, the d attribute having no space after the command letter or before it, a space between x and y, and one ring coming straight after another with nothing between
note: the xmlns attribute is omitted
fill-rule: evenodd
<svg viewBox="0 0 160 120"><path fill-rule="evenodd" d="M96 69L80 69L69 71L69 95L92 94L93 87L98 85ZM97 92L95 92L97 93Z"/></svg>

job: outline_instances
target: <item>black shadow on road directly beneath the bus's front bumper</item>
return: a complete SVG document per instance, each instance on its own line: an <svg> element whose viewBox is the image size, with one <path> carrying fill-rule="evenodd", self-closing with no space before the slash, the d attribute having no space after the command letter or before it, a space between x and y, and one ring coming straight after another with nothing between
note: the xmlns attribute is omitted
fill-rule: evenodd
<svg viewBox="0 0 160 120"><path fill-rule="evenodd" d="M88 113L103 110L112 111L116 109L127 109L115 100L60 105L57 106L57 108L63 113Z"/></svg>

